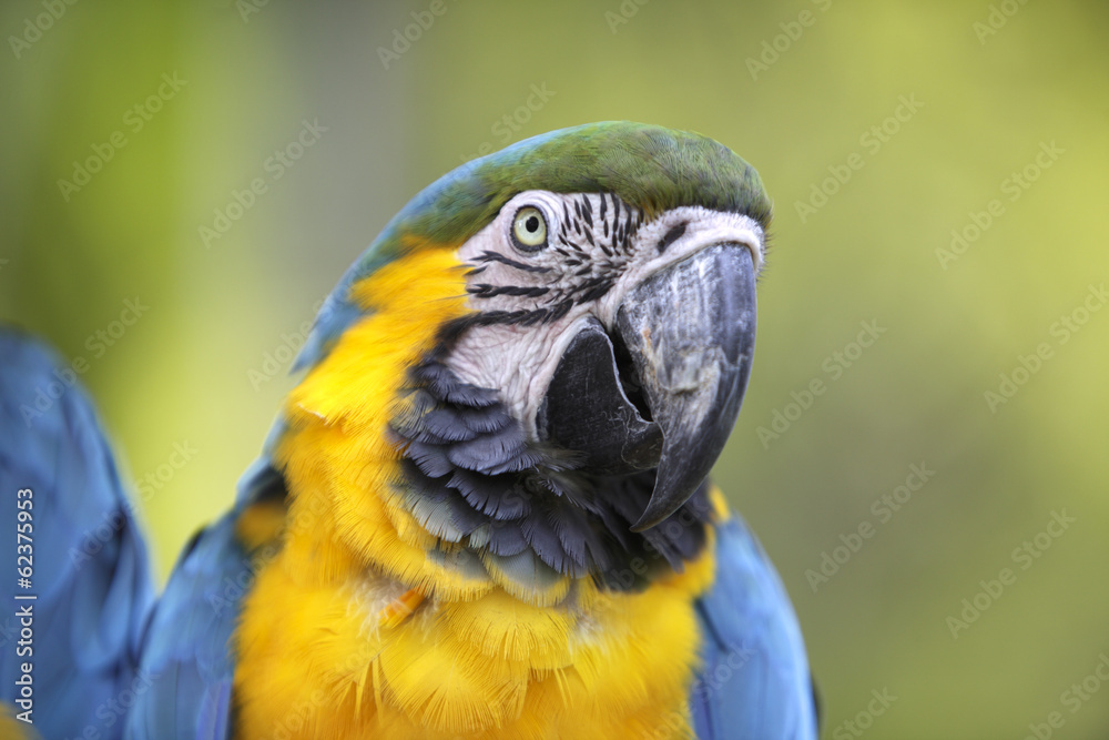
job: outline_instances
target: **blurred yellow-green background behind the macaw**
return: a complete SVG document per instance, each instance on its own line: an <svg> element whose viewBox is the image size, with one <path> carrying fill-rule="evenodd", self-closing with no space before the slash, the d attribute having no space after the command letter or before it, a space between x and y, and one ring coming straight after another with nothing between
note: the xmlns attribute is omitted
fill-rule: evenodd
<svg viewBox="0 0 1109 740"><path fill-rule="evenodd" d="M0 317L88 363L164 579L257 454L314 307L420 187L587 121L711 135L775 202L716 477L794 599L824 737L1106 738L1107 20L9 1Z"/></svg>

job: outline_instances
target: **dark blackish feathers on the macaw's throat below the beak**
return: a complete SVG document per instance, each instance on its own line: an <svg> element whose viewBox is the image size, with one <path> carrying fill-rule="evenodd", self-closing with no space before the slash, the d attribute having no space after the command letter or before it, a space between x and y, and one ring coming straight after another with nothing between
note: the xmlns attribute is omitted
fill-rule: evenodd
<svg viewBox="0 0 1109 740"><path fill-rule="evenodd" d="M495 391L446 365L472 326L444 327L438 347L409 372L405 412L390 425L404 456L396 485L420 526L475 553L531 557L613 590L643 588L696 557L710 518L705 486L670 519L632 533L654 473L601 478L528 442Z"/></svg>

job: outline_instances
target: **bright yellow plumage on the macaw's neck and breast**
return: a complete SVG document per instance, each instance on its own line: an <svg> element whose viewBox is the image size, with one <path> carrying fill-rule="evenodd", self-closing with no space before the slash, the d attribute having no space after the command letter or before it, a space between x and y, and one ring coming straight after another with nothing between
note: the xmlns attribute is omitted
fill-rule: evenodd
<svg viewBox="0 0 1109 740"><path fill-rule="evenodd" d="M291 500L237 630L240 737L690 737L711 533L641 592L569 577L523 589L460 545L429 557L436 538L397 501L387 423L405 369L467 312L464 267L424 247L354 296L373 313L286 404ZM272 517L254 517L253 540Z"/></svg>

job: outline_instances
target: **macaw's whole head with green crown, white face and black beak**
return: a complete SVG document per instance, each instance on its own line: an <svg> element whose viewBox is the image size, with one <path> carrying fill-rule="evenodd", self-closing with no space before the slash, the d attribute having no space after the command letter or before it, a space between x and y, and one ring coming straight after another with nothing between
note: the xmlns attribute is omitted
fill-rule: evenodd
<svg viewBox="0 0 1109 740"><path fill-rule="evenodd" d="M356 497L379 435L393 526L440 560L603 579L645 548L680 567L750 374L770 213L731 150L639 123L458 168L321 311L283 425L323 425L346 452L301 468L335 468Z"/></svg>

